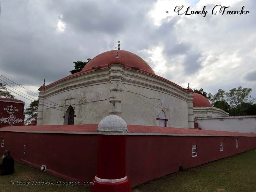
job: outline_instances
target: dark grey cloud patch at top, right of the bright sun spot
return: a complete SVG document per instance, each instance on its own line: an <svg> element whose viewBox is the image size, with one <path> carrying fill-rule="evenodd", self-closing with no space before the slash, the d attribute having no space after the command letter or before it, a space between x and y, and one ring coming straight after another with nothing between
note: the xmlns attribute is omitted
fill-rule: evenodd
<svg viewBox="0 0 256 192"><path fill-rule="evenodd" d="M116 34L126 25L126 14L122 14L115 7L105 9L95 1L74 6L63 12L63 21L86 33L99 31L100 33Z"/></svg>

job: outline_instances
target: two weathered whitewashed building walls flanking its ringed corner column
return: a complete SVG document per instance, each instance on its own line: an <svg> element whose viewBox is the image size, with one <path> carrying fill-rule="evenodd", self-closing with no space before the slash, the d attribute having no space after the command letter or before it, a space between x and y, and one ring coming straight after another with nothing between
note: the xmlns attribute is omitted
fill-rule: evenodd
<svg viewBox="0 0 256 192"><path fill-rule="evenodd" d="M43 125L62 125L67 108L74 108L74 124L97 124L109 115L109 69L99 70L62 80L40 95L63 107L43 106ZM122 117L127 124L157 126L157 117L165 112L167 127L188 128L187 92L152 75L124 69ZM128 89L129 90L128 90ZM131 93L131 92L133 93ZM142 96L143 95L143 96ZM150 99L154 98L154 99ZM91 103L84 103L97 101ZM84 103L84 104L82 104ZM162 104L161 104L162 103ZM55 104L54 104L55 105ZM163 109L162 109L163 108Z"/></svg>

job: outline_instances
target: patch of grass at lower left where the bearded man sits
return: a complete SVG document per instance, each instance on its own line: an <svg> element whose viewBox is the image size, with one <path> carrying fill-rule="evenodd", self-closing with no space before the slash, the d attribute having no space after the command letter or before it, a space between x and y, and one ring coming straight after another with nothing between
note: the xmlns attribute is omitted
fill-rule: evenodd
<svg viewBox="0 0 256 192"><path fill-rule="evenodd" d="M2 162L2 158L0 160ZM74 186L66 186L66 185L56 185L56 181L66 181L64 179L54 177L52 175L49 175L45 172L41 172L39 169L32 168L25 166L23 164L15 162L15 172L11 175L4 175L0 176L0 191L1 192L27 192L27 191L33 191L33 192L39 192L39 191L49 191L49 192L55 192L55 191L90 191L88 187L85 187L83 185L74 185ZM54 185L39 185L39 184L33 184L32 182L35 181L53 181ZM11 181L14 182L14 184L11 184ZM17 184L17 181L27 181L30 182L30 184Z"/></svg>

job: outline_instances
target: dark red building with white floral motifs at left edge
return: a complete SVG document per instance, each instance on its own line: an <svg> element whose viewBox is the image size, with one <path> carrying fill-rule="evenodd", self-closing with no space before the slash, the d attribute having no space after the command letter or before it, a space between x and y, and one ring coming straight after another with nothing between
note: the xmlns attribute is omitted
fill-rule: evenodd
<svg viewBox="0 0 256 192"><path fill-rule="evenodd" d="M0 98L0 128L24 125L24 105L18 99Z"/></svg>

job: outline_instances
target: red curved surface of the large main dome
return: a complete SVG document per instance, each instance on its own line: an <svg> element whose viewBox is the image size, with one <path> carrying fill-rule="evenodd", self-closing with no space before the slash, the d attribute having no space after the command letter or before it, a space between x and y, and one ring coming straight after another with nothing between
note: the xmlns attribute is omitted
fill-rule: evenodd
<svg viewBox="0 0 256 192"><path fill-rule="evenodd" d="M102 54L97 55L92 60L89 61L82 71L91 72L95 71L93 67L99 67L100 69L108 68L110 63L116 58L117 50L106 51ZM118 50L119 60L124 63L125 68L132 69L133 67L139 68L136 71L141 71L144 73L155 74L151 67L138 55L135 55L129 51Z"/></svg>

